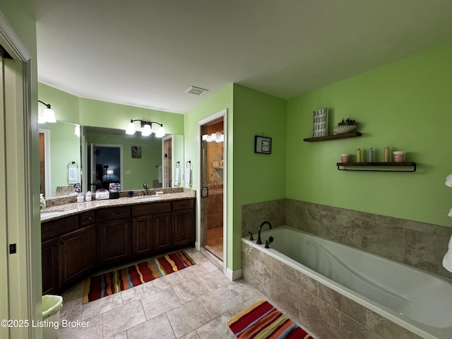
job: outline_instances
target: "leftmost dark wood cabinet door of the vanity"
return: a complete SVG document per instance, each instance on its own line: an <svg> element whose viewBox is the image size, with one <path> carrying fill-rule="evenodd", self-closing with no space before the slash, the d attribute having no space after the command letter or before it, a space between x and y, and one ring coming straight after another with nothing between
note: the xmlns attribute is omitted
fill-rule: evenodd
<svg viewBox="0 0 452 339"><path fill-rule="evenodd" d="M42 242L42 294L55 292L58 279L58 238Z"/></svg>

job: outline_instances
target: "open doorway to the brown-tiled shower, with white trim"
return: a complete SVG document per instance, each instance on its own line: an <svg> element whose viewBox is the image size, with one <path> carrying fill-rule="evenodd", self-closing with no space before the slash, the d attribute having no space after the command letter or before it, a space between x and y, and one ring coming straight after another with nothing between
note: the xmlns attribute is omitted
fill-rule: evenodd
<svg viewBox="0 0 452 339"><path fill-rule="evenodd" d="M225 270L225 111L199 123L200 137L200 247Z"/></svg>

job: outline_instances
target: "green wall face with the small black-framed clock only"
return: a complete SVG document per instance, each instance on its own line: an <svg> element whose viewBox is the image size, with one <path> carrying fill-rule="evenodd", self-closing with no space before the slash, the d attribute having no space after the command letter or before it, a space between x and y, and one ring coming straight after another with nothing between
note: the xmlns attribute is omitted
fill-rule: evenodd
<svg viewBox="0 0 452 339"><path fill-rule="evenodd" d="M234 85L232 270L242 267L242 206L285 198L285 110L283 99ZM254 153L255 136L272 138L271 154Z"/></svg>

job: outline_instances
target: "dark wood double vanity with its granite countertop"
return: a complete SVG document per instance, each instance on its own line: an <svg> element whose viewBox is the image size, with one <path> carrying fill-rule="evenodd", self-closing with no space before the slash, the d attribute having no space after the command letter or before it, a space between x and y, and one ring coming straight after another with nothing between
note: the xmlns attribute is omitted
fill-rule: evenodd
<svg viewBox="0 0 452 339"><path fill-rule="evenodd" d="M194 246L195 201L193 190L168 189L42 210L42 293L61 292L97 270Z"/></svg>

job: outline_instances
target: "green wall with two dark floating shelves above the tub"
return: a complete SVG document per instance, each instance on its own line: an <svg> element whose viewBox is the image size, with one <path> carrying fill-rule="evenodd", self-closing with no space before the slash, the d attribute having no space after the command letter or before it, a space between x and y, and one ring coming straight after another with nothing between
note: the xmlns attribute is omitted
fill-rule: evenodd
<svg viewBox="0 0 452 339"><path fill-rule="evenodd" d="M287 198L452 226L452 45L367 71L287 101ZM330 109L330 133L342 118L359 121L362 137L316 143L312 111ZM341 153L357 148L407 152L415 173L342 172ZM366 159L364 152L364 161Z"/></svg>

